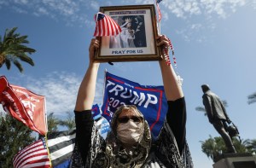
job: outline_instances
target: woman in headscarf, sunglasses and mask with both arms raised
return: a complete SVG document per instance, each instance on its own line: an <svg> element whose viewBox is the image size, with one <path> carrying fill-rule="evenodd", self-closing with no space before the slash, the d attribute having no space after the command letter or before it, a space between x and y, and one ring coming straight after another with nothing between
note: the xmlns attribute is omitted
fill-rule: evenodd
<svg viewBox="0 0 256 168"><path fill-rule="evenodd" d="M159 36L157 45L168 46L168 38ZM135 106L121 106L114 113L111 131L104 140L96 129L90 108L95 96L99 63L94 53L99 42L90 43L90 63L80 85L75 106L76 147L73 167L193 167L185 141L186 107L183 90L177 82L172 65L159 61L163 78L168 112L160 136L155 142L143 114Z"/></svg>

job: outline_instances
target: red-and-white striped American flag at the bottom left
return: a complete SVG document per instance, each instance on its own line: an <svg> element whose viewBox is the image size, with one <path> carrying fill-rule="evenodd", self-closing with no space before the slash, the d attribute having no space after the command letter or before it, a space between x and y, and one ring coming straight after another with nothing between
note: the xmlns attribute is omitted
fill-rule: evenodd
<svg viewBox="0 0 256 168"><path fill-rule="evenodd" d="M14 168L49 168L50 161L44 138L20 150L13 159Z"/></svg>

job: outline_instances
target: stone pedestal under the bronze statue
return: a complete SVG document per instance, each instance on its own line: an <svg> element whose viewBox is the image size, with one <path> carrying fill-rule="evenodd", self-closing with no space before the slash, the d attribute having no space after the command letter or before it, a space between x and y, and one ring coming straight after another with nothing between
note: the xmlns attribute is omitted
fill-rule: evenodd
<svg viewBox="0 0 256 168"><path fill-rule="evenodd" d="M252 154L223 154L213 168L256 168L256 157Z"/></svg>

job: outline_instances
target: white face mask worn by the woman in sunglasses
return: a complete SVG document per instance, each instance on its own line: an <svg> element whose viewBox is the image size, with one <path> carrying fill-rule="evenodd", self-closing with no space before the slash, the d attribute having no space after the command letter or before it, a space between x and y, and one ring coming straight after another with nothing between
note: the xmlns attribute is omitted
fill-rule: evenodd
<svg viewBox="0 0 256 168"><path fill-rule="evenodd" d="M143 123L135 123L131 119L127 123L119 123L117 127L118 139L129 145L140 142L143 137Z"/></svg>

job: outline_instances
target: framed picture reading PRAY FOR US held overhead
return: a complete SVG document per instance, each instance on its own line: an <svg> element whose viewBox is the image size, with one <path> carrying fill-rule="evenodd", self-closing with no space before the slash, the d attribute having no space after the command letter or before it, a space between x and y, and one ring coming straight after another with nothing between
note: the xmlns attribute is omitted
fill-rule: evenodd
<svg viewBox="0 0 256 168"><path fill-rule="evenodd" d="M155 39L158 32L154 4L100 7L100 12L115 20L121 32L98 37L100 49L96 51L96 61L161 60Z"/></svg>

